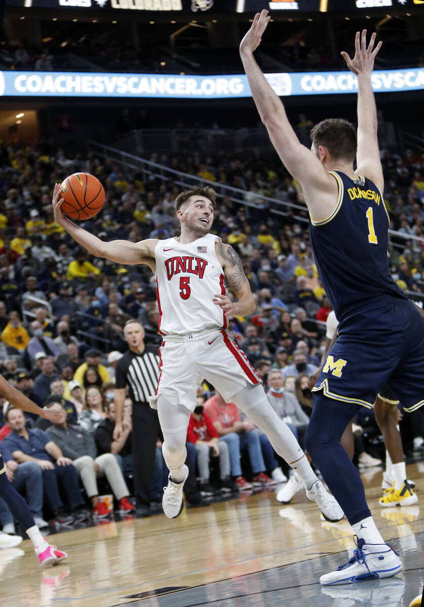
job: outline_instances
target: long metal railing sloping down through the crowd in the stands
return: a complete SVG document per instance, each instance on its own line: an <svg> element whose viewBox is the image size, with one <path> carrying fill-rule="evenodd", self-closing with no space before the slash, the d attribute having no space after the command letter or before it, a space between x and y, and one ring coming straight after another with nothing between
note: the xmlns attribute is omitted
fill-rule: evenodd
<svg viewBox="0 0 424 607"><path fill-rule="evenodd" d="M217 183L216 181L210 181L203 179L200 175L191 175L176 171L163 164L153 162L152 160L146 160L129 152L122 151L117 148L111 148L102 143L96 141L88 141L87 147L89 151L94 152L100 158L111 158L115 163L121 166L131 169L131 171L141 171L143 181L149 180L149 178L157 178L163 183L168 181L175 183L182 188L191 188L193 185L202 184L210 185L217 192L219 198L227 196L231 202L238 205L247 207L246 215L248 217L248 208L253 209L267 209L273 215L281 215L287 217L290 212L290 218L295 219L298 222L308 223L307 217L300 215L299 213L307 212L306 206L296 205L295 203L289 202L286 192L283 192L281 198L272 198L264 196L262 194L256 194L256 192L247 192L240 188L234 188L233 186L226 185L225 183ZM294 214L292 214L294 213ZM396 230L389 229L389 236L396 236L408 242L408 240L414 240L415 242L424 243L424 237L415 236L413 234L404 234ZM391 243L394 248L405 248L405 245L399 243Z"/></svg>

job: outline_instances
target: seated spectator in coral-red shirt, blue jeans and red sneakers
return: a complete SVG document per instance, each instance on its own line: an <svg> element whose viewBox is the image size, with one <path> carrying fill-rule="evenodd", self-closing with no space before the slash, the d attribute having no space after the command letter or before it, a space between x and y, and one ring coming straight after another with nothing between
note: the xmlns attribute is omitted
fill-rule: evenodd
<svg viewBox="0 0 424 607"><path fill-rule="evenodd" d="M208 399L204 405L205 414L211 419L216 429L219 441L225 441L230 453L230 469L234 484L239 491L245 491L254 486L275 484L265 474L265 463L262 457L259 433L250 421L242 422L238 408L233 402L225 402L219 392ZM252 427L253 426L253 427ZM250 465L253 472L252 483L247 483L242 475L240 451L248 449Z"/></svg>

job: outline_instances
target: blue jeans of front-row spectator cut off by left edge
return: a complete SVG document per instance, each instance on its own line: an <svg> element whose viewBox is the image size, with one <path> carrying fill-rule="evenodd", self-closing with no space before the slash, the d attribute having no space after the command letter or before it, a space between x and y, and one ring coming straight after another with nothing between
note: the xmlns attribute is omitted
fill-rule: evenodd
<svg viewBox="0 0 424 607"><path fill-rule="evenodd" d="M15 472L13 487L25 493L33 517L43 518L43 474L35 461L24 461ZM0 523L13 523L14 517L7 504L0 498Z"/></svg>

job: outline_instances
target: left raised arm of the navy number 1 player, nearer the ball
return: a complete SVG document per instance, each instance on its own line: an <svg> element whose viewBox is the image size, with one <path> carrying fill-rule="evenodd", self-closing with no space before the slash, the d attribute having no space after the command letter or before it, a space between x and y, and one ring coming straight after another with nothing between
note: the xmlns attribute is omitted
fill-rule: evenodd
<svg viewBox="0 0 424 607"><path fill-rule="evenodd" d="M255 101L259 116L268 131L272 144L287 171L301 184L312 219L319 221L326 217L329 209L323 209L322 203L316 204L314 202L316 191L318 189L324 194L332 194L334 179L326 174L323 165L315 154L298 140L289 123L281 99L268 84L253 57L253 52L261 42L262 34L265 32L269 19L267 10L262 10L260 14L256 13L250 30L241 41L240 56L253 101ZM309 187L313 188L313 196L307 195ZM330 210L333 206L333 203L330 202Z"/></svg>

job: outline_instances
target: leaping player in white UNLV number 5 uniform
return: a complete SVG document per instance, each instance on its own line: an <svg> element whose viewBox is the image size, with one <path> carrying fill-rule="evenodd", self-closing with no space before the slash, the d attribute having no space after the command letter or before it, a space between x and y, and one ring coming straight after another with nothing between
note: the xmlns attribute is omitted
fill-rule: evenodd
<svg viewBox="0 0 424 607"><path fill-rule="evenodd" d="M160 348L159 384L151 406L159 415L162 452L169 469L163 511L177 517L183 507L184 464L188 421L196 406L196 391L207 379L227 402L235 402L270 439L272 446L296 470L327 520L343 518L343 510L326 492L289 427L268 402L261 379L225 328L227 314L245 316L255 300L239 256L230 245L209 234L216 194L198 186L177 196L175 206L181 235L167 240L148 239L102 242L67 219L61 209L60 188L55 185L56 222L90 253L117 263L145 263L156 274ZM237 301L228 297L227 286ZM115 404L115 432L121 433L121 411Z"/></svg>

